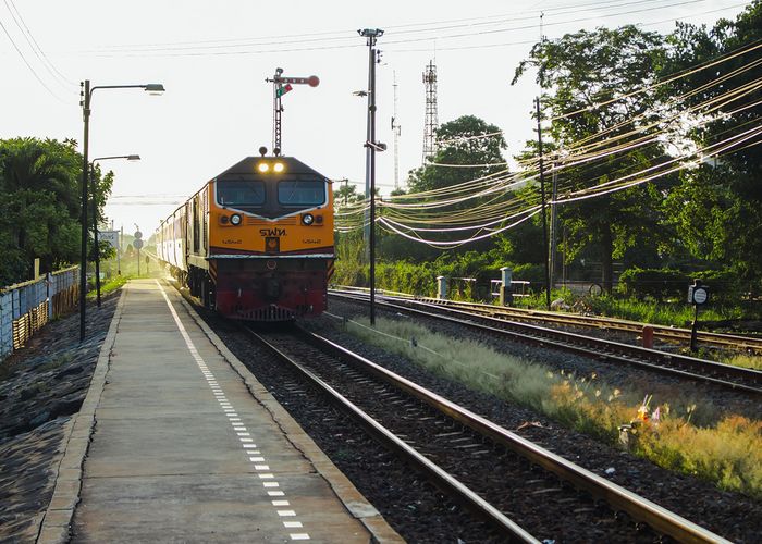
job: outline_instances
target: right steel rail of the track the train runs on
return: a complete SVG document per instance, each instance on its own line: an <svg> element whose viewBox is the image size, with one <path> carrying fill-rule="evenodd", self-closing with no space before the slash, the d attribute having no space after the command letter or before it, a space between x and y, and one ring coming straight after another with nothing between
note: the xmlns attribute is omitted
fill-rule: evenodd
<svg viewBox="0 0 762 544"><path fill-rule="evenodd" d="M476 433L511 449L558 478L570 482L575 487L587 491L591 495L605 500L615 510L627 512L632 519L647 523L662 534L672 536L679 542L728 542L692 521L518 436L339 344L307 331L302 331L302 334L315 347L340 357L353 366L360 366L364 370L382 381L406 392L460 424L468 426Z"/></svg>

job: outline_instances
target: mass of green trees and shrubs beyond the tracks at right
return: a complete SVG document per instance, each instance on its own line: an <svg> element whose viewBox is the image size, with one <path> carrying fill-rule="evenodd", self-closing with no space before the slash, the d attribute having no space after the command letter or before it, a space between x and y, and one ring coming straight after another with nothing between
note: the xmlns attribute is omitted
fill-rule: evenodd
<svg viewBox="0 0 762 544"><path fill-rule="evenodd" d="M723 85L712 83L718 76L759 62L760 49L750 49L712 70L691 69L740 51L760 39L762 0L754 0L735 21L722 20L710 28L679 24L668 36L635 26L598 28L537 44L517 67L515 79L530 67L538 70L538 83L543 89L541 114L552 118L545 124L550 124L544 133L546 151L563 153L564 149L601 131L606 131L605 137L612 139L632 129L639 131L638 137L654 138L653 143L636 146L626 153L564 168L557 176L562 200L594 185L615 184L627 176L636 180L654 164L671 160L666 140L672 152L674 146L703 147L757 126L762 115L759 86L733 100L717 101L717 115L703 119L704 124L698 128L696 120L671 125L664 120L684 113L686 104L712 100L728 89L753 84L758 77L754 71L738 72ZM671 81L652 92L637 92L644 85L684 72L689 72L687 77ZM688 94L686 101L674 101L676 95L684 94ZM726 114L729 112L733 114ZM502 138L469 139L493 132L497 132L496 126L472 115L442 125L437 156L430 164L410 173L410 193L435 191L499 172L503 166L496 163L504 161ZM723 154L720 162L703 162L655 182L560 206L558 232L563 235L558 236L558 250L569 264L568 270L576 274L575 279L585 281L600 282L602 276L604 289L611 292L614 261L620 261L625 269L632 269L622 281L627 297L684 299L686 286L699 277L712 287L713 304L737 305L746 293L751 293L753 299L762 293L759 257L762 255L762 146L752 144L753 140ZM537 152L537 144L530 141L521 158L533 159ZM475 169L437 165L490 163L493 166ZM401 196L404 197L404 191ZM538 184L529 182L511 197L525 205L537 205ZM435 194L430 198L438 199ZM471 215L464 210L472 205L472 200L455 202L450 209L453 217L462 212L470 220ZM427 224L426 214L418 218L423 220L421 224ZM442 233L432 235L438 239L456 239L455 235L450 238ZM481 281L497 279L499 269L508 265L517 280L529 280L536 286L544 281L542 268L536 267L542 264L545 255L539 215L495 237L447 251L404 239L383 228L379 228L378 242L379 259L385 263L432 263L421 274ZM580 271L575 261L582 259L595 263L594 267L582 267ZM340 265L352 272L347 279L355 277L358 284L366 284L367 271L359 262L361 259L355 264L347 261ZM640 272L636 273L635 269ZM659 269L675 272L656 272ZM704 269L709 271L701 272ZM656 275L647 277L643 274L648 270ZM388 283L398 286L404 283L404 274L389 274ZM459 290L464 297L479 297L478 289Z"/></svg>

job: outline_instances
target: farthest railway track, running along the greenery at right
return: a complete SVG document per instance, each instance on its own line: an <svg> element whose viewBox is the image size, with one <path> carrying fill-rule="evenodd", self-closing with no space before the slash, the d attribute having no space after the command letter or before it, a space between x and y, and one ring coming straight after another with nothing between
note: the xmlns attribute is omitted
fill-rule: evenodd
<svg viewBox="0 0 762 544"><path fill-rule="evenodd" d="M341 293L367 293L367 289L355 287L342 287L333 289L331 294ZM600 316L580 316L575 313L563 313L542 310L528 310L524 308L501 307L478 302L462 302L457 300L441 300L437 298L404 296L402 293L394 295L384 295L390 301L411 301L440 306L443 308L459 309L481 316L487 316L501 320L519 321L527 323L541 323L556 326L574 326L591 330L617 331L620 333L639 336L643 332L643 326L650 326L653 330L653 335L664 342L688 345L690 343L691 331L689 329L679 329L665 325L653 325L640 323L637 321L628 321L624 319L604 318ZM762 338L753 336L743 336L739 334L722 334L705 331L698 331L697 342L704 346L718 347L724 349L733 349L749 354L762 355Z"/></svg>

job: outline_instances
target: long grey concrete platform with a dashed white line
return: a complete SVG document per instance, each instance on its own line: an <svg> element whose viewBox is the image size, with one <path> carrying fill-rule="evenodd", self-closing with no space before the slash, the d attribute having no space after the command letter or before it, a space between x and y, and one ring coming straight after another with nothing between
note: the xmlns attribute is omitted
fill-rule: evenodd
<svg viewBox="0 0 762 544"><path fill-rule="evenodd" d="M72 542L401 540L172 287L122 297Z"/></svg>

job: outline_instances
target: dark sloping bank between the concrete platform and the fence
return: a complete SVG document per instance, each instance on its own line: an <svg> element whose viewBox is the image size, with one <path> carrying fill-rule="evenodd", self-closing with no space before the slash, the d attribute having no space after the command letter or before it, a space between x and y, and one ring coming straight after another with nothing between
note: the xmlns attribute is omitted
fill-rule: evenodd
<svg viewBox="0 0 762 544"><path fill-rule="evenodd" d="M67 426L89 388L121 292L42 327L0 363L0 542L34 542L56 483Z"/></svg>

